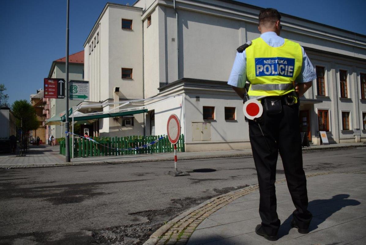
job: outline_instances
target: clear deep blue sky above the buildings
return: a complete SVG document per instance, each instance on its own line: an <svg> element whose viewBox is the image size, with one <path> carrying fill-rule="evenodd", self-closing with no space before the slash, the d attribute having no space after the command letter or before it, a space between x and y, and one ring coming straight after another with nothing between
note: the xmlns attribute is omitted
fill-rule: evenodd
<svg viewBox="0 0 366 245"><path fill-rule="evenodd" d="M240 0L366 35L364 0ZM70 0L70 54L83 43L106 0ZM132 5L135 0L109 0ZM9 103L43 88L53 60L65 55L66 0L1 0L0 83Z"/></svg>

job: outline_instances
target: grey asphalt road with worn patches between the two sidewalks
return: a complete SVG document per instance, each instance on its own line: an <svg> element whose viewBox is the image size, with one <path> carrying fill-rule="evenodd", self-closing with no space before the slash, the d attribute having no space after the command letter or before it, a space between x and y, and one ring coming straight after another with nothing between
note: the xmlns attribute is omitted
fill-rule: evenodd
<svg viewBox="0 0 366 245"><path fill-rule="evenodd" d="M313 172L366 170L365 148L303 154ZM221 158L0 171L0 244L132 244L203 201L257 183L254 162ZM277 179L283 179L279 157ZM139 241L136 242L138 244Z"/></svg>

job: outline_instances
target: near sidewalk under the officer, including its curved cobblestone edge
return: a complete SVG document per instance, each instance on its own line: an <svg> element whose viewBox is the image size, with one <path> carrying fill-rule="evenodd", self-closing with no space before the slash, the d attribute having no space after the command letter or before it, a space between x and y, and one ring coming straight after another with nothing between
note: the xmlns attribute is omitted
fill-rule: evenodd
<svg viewBox="0 0 366 245"><path fill-rule="evenodd" d="M307 177L310 233L291 228L294 204L284 180L276 183L279 240L257 235L258 185L192 208L158 229L144 245L366 244L366 171L318 173Z"/></svg>

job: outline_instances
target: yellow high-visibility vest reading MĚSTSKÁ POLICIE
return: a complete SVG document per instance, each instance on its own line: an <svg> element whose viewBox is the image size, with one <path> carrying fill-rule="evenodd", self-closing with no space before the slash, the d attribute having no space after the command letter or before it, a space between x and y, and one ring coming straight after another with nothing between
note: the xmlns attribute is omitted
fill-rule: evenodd
<svg viewBox="0 0 366 245"><path fill-rule="evenodd" d="M245 49L250 99L281 96L295 90L294 81L302 67L302 49L297 42L285 39L280 47L270 47L256 38Z"/></svg>

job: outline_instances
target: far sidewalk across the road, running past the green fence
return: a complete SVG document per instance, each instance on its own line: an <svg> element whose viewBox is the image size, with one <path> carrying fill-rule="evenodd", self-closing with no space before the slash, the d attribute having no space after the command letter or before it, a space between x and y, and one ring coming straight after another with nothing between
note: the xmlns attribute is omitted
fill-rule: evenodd
<svg viewBox="0 0 366 245"><path fill-rule="evenodd" d="M303 148L306 151L335 150L354 147L365 147L361 143L341 143L332 145L316 145ZM216 157L251 157L251 149L224 150L224 151L201 151L201 152L178 152L179 160L208 159ZM17 157L15 154L0 154L1 168L29 168L29 167L58 167L106 163L134 163L134 162L156 162L173 161L174 153L154 153L143 155L122 155L122 156L100 156L100 157L79 157L71 159L71 163L65 163L65 157L59 154L59 146L31 146L26 156Z"/></svg>

